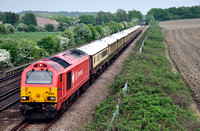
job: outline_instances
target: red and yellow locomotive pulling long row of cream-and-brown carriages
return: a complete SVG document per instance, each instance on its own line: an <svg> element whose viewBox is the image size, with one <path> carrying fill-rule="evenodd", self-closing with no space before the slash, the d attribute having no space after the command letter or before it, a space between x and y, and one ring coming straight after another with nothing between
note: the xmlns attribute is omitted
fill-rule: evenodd
<svg viewBox="0 0 200 131"><path fill-rule="evenodd" d="M20 106L28 119L55 118L142 31L137 25L32 63L21 75Z"/></svg>

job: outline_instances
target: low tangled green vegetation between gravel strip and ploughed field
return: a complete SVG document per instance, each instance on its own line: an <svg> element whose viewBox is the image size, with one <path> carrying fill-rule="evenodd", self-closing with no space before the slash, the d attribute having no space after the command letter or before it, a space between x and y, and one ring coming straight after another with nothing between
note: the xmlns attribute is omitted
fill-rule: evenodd
<svg viewBox="0 0 200 131"><path fill-rule="evenodd" d="M190 109L191 95L179 74L166 58L163 32L149 27L134 50L147 36L142 53L127 58L123 70L110 86L113 93L96 106L89 130L200 130L197 116ZM122 87L128 82L126 95ZM119 114L112 123L118 99Z"/></svg>

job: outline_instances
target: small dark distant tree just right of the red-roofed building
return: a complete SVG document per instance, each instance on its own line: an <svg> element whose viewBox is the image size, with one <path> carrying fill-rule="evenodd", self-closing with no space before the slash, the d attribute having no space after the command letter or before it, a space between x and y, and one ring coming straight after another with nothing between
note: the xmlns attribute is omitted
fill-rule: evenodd
<svg viewBox="0 0 200 131"><path fill-rule="evenodd" d="M80 23L93 24L93 25L96 24L96 19L92 15L81 15L79 19L80 19Z"/></svg>

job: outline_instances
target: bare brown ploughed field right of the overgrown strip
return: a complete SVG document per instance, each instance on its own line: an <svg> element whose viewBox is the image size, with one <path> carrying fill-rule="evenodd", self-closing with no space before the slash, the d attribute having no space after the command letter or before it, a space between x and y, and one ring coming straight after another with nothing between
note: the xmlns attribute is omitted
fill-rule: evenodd
<svg viewBox="0 0 200 131"><path fill-rule="evenodd" d="M200 19L161 22L168 53L200 109Z"/></svg>

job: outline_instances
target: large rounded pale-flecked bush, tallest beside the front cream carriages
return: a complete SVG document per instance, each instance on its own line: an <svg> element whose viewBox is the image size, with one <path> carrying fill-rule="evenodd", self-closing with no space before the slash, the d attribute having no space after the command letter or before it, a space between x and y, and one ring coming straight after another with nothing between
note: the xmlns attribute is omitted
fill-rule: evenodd
<svg viewBox="0 0 200 131"><path fill-rule="evenodd" d="M89 42L92 39L90 28L82 23L75 26L73 33L76 45Z"/></svg>

